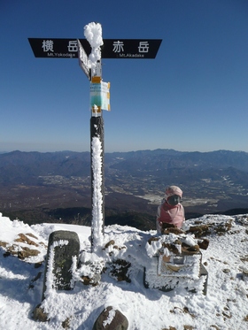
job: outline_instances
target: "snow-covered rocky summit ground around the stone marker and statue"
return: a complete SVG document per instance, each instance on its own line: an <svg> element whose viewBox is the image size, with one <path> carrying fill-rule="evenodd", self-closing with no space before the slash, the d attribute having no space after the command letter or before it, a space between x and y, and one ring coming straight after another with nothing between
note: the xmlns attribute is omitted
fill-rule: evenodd
<svg viewBox="0 0 248 330"><path fill-rule="evenodd" d="M187 221L202 224L230 223L229 231L219 234L213 230L208 235L209 247L202 250L203 263L209 273L207 295L193 294L184 288L168 293L156 288L144 288L143 265L147 262L146 244L154 231L143 232L130 226L105 227L104 245L113 240L123 249L99 249L90 253L90 227L43 224L27 226L25 223L5 218L0 213L0 328L64 329L66 319L70 329L91 330L101 311L113 306L121 311L129 322L130 330L146 329L227 329L248 328L248 280L243 272L248 268L248 215L235 217L204 216ZM37 304L42 302L44 257L48 238L55 230L70 230L79 235L84 258L97 262L121 258L131 263L128 276L131 282L118 281L109 272L95 287L77 281L71 291L53 291L43 302L50 321L38 322L32 318ZM26 234L37 246L14 242L19 234ZM16 250L29 246L39 254L21 260L6 256L8 246L16 244ZM37 263L43 262L39 268ZM62 323L64 327L62 326Z"/></svg>

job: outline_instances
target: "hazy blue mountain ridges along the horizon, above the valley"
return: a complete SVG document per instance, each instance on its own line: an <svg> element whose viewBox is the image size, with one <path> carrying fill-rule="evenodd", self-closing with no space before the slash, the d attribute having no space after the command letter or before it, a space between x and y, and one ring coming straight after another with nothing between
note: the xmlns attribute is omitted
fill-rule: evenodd
<svg viewBox="0 0 248 330"><path fill-rule="evenodd" d="M0 155L0 181L35 180L43 175L85 176L90 173L89 152L22 152ZM105 165L125 173L163 173L164 171L205 171L233 167L248 172L248 153L219 150L182 152L176 150L141 150L105 153ZM18 179L19 178L19 179Z"/></svg>

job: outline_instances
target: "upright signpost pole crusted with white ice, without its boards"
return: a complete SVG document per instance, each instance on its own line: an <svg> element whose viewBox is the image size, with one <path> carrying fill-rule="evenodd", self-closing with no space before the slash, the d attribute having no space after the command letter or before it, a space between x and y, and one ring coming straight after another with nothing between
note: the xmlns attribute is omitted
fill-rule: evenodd
<svg viewBox="0 0 248 330"><path fill-rule="evenodd" d="M89 23L84 27L84 35L91 46L89 54L90 79L92 88L102 81L101 46L102 27L99 23ZM105 182L104 182L104 119L99 104L91 108L90 118L90 159L91 159L91 249L102 245L105 228Z"/></svg>

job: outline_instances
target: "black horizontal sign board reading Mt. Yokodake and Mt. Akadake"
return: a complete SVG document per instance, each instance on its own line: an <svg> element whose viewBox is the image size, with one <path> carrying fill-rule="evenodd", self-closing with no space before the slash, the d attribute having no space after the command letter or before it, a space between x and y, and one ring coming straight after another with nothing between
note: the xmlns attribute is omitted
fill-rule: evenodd
<svg viewBox="0 0 248 330"><path fill-rule="evenodd" d="M77 39L28 38L35 58L78 58ZM79 39L89 56L86 39ZM161 39L104 39L102 58L156 58Z"/></svg>

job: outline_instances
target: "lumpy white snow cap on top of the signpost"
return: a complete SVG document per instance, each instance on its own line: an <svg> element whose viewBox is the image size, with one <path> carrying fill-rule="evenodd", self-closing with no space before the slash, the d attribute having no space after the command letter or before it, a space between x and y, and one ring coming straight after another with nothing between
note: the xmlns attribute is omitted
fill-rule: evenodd
<svg viewBox="0 0 248 330"><path fill-rule="evenodd" d="M89 23L84 27L84 36L91 46L91 53L89 60L91 65L96 65L97 61L101 59L101 46L104 44L102 38L102 26L100 23Z"/></svg>

